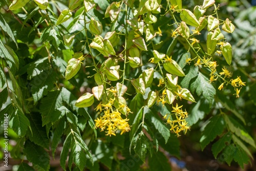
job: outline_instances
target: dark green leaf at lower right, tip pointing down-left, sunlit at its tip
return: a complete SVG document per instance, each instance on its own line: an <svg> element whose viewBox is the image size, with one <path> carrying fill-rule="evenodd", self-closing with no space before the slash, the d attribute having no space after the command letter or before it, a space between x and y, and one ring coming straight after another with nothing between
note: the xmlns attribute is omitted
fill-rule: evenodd
<svg viewBox="0 0 256 171"><path fill-rule="evenodd" d="M214 140L216 136L221 135L224 128L225 122L221 115L211 117L207 125L204 127L202 137L200 139L202 149Z"/></svg>

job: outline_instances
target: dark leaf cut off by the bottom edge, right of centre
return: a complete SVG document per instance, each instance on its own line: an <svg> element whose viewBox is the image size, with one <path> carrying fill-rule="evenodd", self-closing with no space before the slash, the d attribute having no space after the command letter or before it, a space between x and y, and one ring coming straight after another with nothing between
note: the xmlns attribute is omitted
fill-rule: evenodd
<svg viewBox="0 0 256 171"><path fill-rule="evenodd" d="M148 165L150 166L149 170L172 170L170 168L170 164L168 163L168 159L166 156L158 151L154 152L153 157L148 158Z"/></svg>

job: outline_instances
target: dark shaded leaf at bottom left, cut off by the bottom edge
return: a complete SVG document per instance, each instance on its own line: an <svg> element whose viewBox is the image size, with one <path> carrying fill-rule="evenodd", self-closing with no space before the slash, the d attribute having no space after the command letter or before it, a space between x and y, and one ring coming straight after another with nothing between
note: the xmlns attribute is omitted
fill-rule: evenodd
<svg viewBox="0 0 256 171"><path fill-rule="evenodd" d="M32 162L33 165L39 166L43 170L50 169L50 156L44 147L27 140L24 145L24 153L28 161Z"/></svg>

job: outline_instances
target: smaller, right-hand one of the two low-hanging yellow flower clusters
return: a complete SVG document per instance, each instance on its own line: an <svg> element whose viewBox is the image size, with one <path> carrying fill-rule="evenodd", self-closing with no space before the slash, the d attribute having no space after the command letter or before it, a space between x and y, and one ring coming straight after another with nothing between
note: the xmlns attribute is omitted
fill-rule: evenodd
<svg viewBox="0 0 256 171"><path fill-rule="evenodd" d="M187 125L185 118L187 118L188 113L183 112L181 109L183 105L179 106L176 103L176 106L173 106L173 114L166 114L163 118L167 120L167 124L170 125L170 131L174 132L178 137L180 132L183 131L184 134L187 133L187 130L190 130L190 127ZM173 118L172 115L175 115Z"/></svg>

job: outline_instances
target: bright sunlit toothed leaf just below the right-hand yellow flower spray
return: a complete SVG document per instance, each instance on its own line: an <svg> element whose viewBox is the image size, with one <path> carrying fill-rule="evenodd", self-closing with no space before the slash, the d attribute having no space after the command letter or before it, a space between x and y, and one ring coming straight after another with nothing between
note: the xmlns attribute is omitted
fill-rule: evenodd
<svg viewBox="0 0 256 171"><path fill-rule="evenodd" d="M209 83L207 78L200 72L198 73L196 81L191 83L191 91L194 92L195 90L198 96L203 93L203 97L209 101L210 105L212 104L216 90L214 86Z"/></svg>

